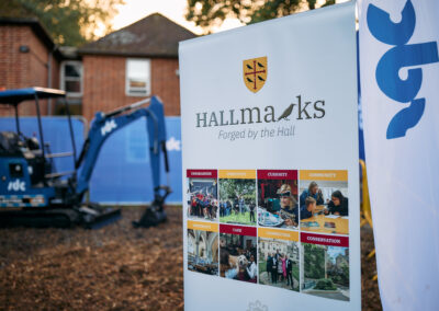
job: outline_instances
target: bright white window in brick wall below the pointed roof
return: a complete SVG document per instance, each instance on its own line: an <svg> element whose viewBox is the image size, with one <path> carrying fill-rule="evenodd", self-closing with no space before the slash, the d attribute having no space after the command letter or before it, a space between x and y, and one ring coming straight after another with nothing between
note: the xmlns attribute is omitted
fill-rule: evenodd
<svg viewBox="0 0 439 311"><path fill-rule="evenodd" d="M150 94L149 59L126 60L125 92L130 96L147 96Z"/></svg>

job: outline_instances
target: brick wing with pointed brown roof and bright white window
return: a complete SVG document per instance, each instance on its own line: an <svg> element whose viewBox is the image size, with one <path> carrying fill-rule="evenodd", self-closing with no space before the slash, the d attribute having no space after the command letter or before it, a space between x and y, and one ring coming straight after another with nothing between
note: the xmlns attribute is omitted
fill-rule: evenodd
<svg viewBox="0 0 439 311"><path fill-rule="evenodd" d="M156 13L80 48L83 116L150 94L164 101L166 115L180 115L178 43L193 37Z"/></svg>

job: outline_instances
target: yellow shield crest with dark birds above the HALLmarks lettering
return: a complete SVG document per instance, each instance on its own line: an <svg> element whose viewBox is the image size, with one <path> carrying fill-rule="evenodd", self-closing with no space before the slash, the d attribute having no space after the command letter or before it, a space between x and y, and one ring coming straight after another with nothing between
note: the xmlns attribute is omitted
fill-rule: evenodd
<svg viewBox="0 0 439 311"><path fill-rule="evenodd" d="M244 83L251 92L262 89L267 80L267 56L243 61Z"/></svg>

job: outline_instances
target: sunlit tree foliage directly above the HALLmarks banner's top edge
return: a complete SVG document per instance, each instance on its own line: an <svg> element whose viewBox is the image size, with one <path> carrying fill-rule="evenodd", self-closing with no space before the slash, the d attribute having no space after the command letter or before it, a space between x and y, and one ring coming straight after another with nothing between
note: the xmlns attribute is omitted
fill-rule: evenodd
<svg viewBox="0 0 439 311"><path fill-rule="evenodd" d="M322 7L335 3L335 0L324 1ZM185 19L210 33L212 27L221 25L227 18L252 24L301 10L313 10L316 2L317 0L188 0Z"/></svg>

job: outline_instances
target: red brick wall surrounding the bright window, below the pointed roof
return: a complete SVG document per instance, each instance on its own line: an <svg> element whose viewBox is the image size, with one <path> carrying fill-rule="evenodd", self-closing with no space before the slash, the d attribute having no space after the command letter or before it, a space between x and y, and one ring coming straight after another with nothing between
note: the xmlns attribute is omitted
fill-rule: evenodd
<svg viewBox="0 0 439 311"><path fill-rule="evenodd" d="M125 95L125 57L83 56L82 115L91 122L95 112L110 112L142 100ZM160 96L166 115L180 115L177 59L151 59L151 93Z"/></svg>

